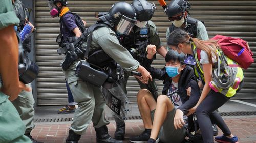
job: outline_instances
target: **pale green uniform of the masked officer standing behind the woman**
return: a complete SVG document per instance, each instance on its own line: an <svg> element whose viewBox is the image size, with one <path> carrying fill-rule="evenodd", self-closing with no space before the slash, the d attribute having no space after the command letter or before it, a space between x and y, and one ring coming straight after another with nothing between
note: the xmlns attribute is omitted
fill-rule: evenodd
<svg viewBox="0 0 256 143"><path fill-rule="evenodd" d="M194 27L193 26L196 26L196 32L194 31ZM192 28L190 28L192 27ZM167 31L166 31L166 39L168 40L169 36L170 36L170 33L172 33L173 30L177 29L173 24L167 28ZM192 18L190 16L187 17L187 26L186 28L184 28L185 31L187 31L188 33L192 34L192 37L195 37L195 38L198 38L200 40L208 40L209 37L208 37L208 33L206 31L206 28L204 26L204 24L195 19L195 18ZM167 46L167 50L170 50L169 46Z"/></svg>

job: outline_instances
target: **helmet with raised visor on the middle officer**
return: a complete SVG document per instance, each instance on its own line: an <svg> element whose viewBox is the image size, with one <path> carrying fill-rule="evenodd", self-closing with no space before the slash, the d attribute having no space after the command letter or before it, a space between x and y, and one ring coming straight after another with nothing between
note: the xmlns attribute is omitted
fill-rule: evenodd
<svg viewBox="0 0 256 143"><path fill-rule="evenodd" d="M149 3L146 0L134 0L132 2L138 21L148 21L152 18L156 6L154 3Z"/></svg>

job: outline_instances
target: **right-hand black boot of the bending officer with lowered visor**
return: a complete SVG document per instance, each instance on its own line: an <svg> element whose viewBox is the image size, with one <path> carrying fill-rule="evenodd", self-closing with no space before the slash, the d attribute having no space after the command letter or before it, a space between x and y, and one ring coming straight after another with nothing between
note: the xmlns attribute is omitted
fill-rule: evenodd
<svg viewBox="0 0 256 143"><path fill-rule="evenodd" d="M111 138L111 136L108 134L108 127L106 125L101 126L99 128L94 128L96 131L96 137L97 137L97 143L122 143L123 141L116 140L114 138Z"/></svg>

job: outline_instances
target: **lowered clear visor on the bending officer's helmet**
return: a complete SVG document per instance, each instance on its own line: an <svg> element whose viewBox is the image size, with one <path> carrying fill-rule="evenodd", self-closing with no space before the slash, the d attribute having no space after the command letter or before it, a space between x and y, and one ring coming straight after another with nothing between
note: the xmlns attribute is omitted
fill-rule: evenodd
<svg viewBox="0 0 256 143"><path fill-rule="evenodd" d="M136 19L122 16L120 22L117 25L116 31L118 34L129 35L133 26L135 25Z"/></svg>

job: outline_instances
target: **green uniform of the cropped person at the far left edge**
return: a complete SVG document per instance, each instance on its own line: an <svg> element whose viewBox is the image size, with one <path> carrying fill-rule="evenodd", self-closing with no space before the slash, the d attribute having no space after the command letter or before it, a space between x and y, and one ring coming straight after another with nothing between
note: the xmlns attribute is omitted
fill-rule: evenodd
<svg viewBox="0 0 256 143"><path fill-rule="evenodd" d="M0 1L0 28L19 23L12 10L11 1ZM0 142L31 142L24 132L25 126L17 110L8 100L8 96L0 92Z"/></svg>

